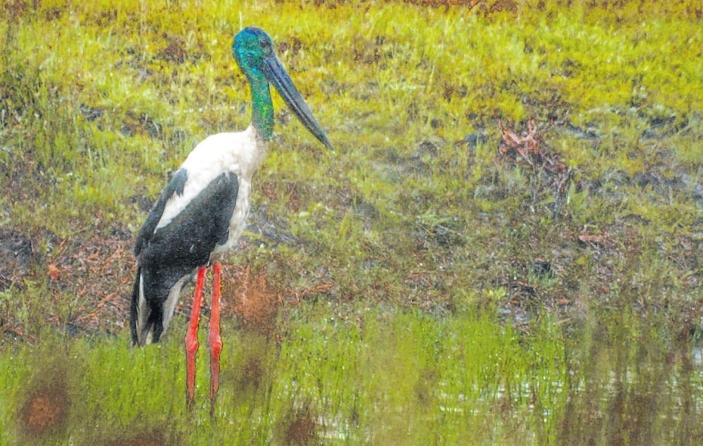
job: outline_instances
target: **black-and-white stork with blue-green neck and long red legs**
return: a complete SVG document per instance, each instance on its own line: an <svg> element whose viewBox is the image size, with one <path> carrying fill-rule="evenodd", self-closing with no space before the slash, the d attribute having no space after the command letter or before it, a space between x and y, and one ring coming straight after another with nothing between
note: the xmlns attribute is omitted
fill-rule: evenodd
<svg viewBox="0 0 703 446"><path fill-rule="evenodd" d="M191 319L186 333L186 403L192 410L198 321L207 265L212 263L210 345L211 411L219 387L220 265L245 228L252 176L273 134L276 87L303 125L328 148L330 140L273 51L266 32L247 27L234 37L232 52L249 81L252 123L244 132L208 136L188 155L150 210L136 238L138 269L131 295L134 345L157 342L165 333L184 283L197 271Z"/></svg>

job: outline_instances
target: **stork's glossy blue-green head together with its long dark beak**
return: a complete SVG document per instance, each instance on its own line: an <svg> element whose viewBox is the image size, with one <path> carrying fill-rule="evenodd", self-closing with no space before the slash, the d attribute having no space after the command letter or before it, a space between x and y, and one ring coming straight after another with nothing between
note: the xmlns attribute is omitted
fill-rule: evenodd
<svg viewBox="0 0 703 446"><path fill-rule="evenodd" d="M241 30L234 37L232 53L250 84L264 80L272 84L288 108L295 113L309 132L322 144L330 149L333 148L327 134L318 124L304 98L295 88L288 72L285 71L283 63L273 51L273 41L269 34L257 27Z"/></svg>

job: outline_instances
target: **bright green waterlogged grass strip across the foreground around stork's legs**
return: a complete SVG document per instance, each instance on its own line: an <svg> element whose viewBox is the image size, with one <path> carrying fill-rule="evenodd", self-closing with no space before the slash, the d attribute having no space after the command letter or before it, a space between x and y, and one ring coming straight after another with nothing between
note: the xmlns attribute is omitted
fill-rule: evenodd
<svg viewBox="0 0 703 446"><path fill-rule="evenodd" d="M633 322L627 329L596 324L574 339L552 320L525 336L490 316L440 319L354 306L330 317L330 310L322 302L297 307L280 343L227 326L214 419L205 352L191 415L181 392L179 339L135 350L124 348L126 336L44 333L46 342L18 345L0 358L1 389L18 403L2 406L3 441L278 444L291 441L300 420L313 420L309 440L325 444L546 444L610 435L671 442L700 435L695 393L703 379L676 366L677 356L688 354L685 344L638 326L636 315L625 315ZM67 413L37 437L21 414L47 385L65 386Z"/></svg>

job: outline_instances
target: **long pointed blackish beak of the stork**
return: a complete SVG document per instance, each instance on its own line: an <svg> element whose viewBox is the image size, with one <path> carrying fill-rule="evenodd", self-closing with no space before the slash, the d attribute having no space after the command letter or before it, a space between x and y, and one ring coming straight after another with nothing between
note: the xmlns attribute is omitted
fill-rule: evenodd
<svg viewBox="0 0 703 446"><path fill-rule="evenodd" d="M292 79L290 79L288 72L285 71L283 63L280 62L278 56L276 56L276 54L271 54L271 56L266 57L264 59L263 68L266 80L271 82L273 87L276 87L278 94L280 94L283 101L288 105L288 108L295 113L305 128L308 129L311 134L314 134L322 144L330 148L330 150L335 150L327 134L312 115L305 99L300 95L298 89L295 88L295 84L293 84Z"/></svg>

